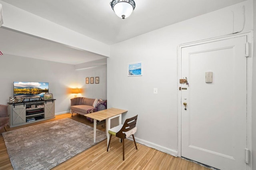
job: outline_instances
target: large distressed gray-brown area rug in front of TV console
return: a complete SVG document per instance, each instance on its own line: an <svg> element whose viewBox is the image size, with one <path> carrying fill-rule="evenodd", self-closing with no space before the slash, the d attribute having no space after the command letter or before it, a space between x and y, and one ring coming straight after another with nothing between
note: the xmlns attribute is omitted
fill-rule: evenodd
<svg viewBox="0 0 256 170"><path fill-rule="evenodd" d="M106 132L60 119L2 133L14 170L49 170L106 139Z"/></svg>

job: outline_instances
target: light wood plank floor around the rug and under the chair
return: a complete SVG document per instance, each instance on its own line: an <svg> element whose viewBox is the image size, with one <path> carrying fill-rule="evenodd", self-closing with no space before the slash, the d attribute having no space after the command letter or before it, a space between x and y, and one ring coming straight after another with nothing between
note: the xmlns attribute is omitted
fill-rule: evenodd
<svg viewBox="0 0 256 170"><path fill-rule="evenodd" d="M85 117L79 115L74 115L71 117L71 114L67 113L57 115L55 119L23 125L20 127L7 127L6 129L7 131L10 131L63 118L74 119L93 127L93 123L88 121ZM102 125L105 125L104 121L97 124L97 129L105 131L105 128L102 127ZM4 139L2 137L2 132L4 131L4 128L0 130L0 170L13 170ZM138 150L136 150L134 142L131 140L125 140L125 160L123 161L122 143L119 142L118 138L115 136L112 137L110 150L108 152L106 152L106 143L107 142L105 139L102 142L88 148L84 152L81 152L80 154L77 154L76 156L56 166L53 168L53 170L210 170L209 168L200 166L199 164L171 156L139 143L137 143Z"/></svg>

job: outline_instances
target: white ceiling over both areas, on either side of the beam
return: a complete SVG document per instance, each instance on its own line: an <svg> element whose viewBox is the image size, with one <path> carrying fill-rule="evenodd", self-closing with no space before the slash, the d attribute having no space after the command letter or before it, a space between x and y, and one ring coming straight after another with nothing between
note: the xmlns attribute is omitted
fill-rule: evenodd
<svg viewBox="0 0 256 170"><path fill-rule="evenodd" d="M134 12L124 20L114 14L110 7L110 0L2 1L111 45L245 0L135 0ZM26 53L21 51L12 53L24 57L52 59L71 64L103 58L103 56L88 51L72 49L62 44L19 34L1 28L0 36L5 36L7 42L0 41L0 50L3 53L5 53L5 49L8 51L6 53L15 51L15 47L12 45L13 41L16 41L15 46L22 45L22 49ZM17 41L16 36L20 41ZM29 40L26 41L27 47L22 41L26 40L26 37ZM47 43L49 44L46 45ZM33 49L31 45L34 45ZM42 50L44 50L43 54Z"/></svg>

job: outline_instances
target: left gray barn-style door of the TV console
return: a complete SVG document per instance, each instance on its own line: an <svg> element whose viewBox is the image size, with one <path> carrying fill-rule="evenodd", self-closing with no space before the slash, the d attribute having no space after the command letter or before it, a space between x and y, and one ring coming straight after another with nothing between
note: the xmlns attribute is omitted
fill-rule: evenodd
<svg viewBox="0 0 256 170"><path fill-rule="evenodd" d="M26 123L26 107L24 105L12 106L12 125Z"/></svg>

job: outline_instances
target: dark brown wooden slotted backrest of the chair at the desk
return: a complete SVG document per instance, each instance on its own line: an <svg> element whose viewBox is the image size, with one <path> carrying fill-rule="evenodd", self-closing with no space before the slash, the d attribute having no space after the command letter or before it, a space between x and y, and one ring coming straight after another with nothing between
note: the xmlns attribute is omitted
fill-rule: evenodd
<svg viewBox="0 0 256 170"><path fill-rule="evenodd" d="M116 133L116 136L118 138L126 138L126 135L124 132L127 132L133 128L136 127L136 123L137 123L137 117L138 115L134 116L134 117L131 117L129 119L126 119L125 122L124 122L124 125L123 127L121 128L121 130L119 130L117 133Z"/></svg>

